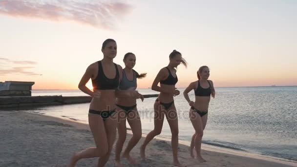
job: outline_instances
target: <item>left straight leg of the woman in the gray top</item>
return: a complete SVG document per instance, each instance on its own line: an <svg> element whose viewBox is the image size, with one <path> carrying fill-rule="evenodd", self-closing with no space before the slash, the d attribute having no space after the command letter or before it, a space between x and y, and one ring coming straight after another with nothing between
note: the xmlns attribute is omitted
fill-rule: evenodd
<svg viewBox="0 0 297 167"><path fill-rule="evenodd" d="M123 149L123 145L126 140L127 128L126 128L126 113L124 110L120 110L118 112L118 141L115 145L115 166L123 167L121 164L121 152Z"/></svg>

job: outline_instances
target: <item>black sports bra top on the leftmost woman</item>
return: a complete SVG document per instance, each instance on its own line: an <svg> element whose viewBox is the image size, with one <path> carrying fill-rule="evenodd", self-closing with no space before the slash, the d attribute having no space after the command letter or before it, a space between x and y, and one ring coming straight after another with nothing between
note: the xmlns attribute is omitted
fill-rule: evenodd
<svg viewBox="0 0 297 167"><path fill-rule="evenodd" d="M117 89L120 83L120 74L119 69L116 63L113 63L116 69L115 78L109 79L103 72L103 67L101 61L98 61L98 74L97 77L93 80L92 85L94 89L97 90L109 90L109 89Z"/></svg>

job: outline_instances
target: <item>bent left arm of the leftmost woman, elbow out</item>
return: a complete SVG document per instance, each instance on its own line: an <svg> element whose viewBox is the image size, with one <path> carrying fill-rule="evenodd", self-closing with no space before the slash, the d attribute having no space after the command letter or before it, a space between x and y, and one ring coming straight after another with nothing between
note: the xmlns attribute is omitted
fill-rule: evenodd
<svg viewBox="0 0 297 167"><path fill-rule="evenodd" d="M90 95L91 97L94 97L94 92L91 91L89 88L85 86L85 84L90 80L90 78L93 77L93 71L94 71L94 66L89 65L87 69L85 70L85 74L83 75L80 83L78 84L78 88L83 91L84 93Z"/></svg>

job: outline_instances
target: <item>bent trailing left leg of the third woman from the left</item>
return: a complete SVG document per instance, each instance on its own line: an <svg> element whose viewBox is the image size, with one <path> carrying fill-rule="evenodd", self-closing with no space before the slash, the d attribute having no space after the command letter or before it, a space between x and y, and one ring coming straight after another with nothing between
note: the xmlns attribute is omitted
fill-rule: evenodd
<svg viewBox="0 0 297 167"><path fill-rule="evenodd" d="M154 104L154 129L150 131L140 147L140 156L142 159L146 158L145 149L148 143L157 135L161 133L163 122L164 122L164 106L160 105L158 102Z"/></svg>

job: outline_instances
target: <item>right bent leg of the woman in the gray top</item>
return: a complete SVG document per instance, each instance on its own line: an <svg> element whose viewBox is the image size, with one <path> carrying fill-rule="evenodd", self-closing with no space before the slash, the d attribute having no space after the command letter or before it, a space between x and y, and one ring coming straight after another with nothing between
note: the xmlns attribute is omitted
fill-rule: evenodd
<svg viewBox="0 0 297 167"><path fill-rule="evenodd" d="M127 121L131 127L133 136L130 139L127 148L125 149L123 153L123 157L127 158L130 164L136 164L136 161L130 157L129 153L132 150L134 146L138 143L138 141L141 139L141 121L140 117L137 111L137 108L135 108L133 111L131 111L127 116Z"/></svg>

